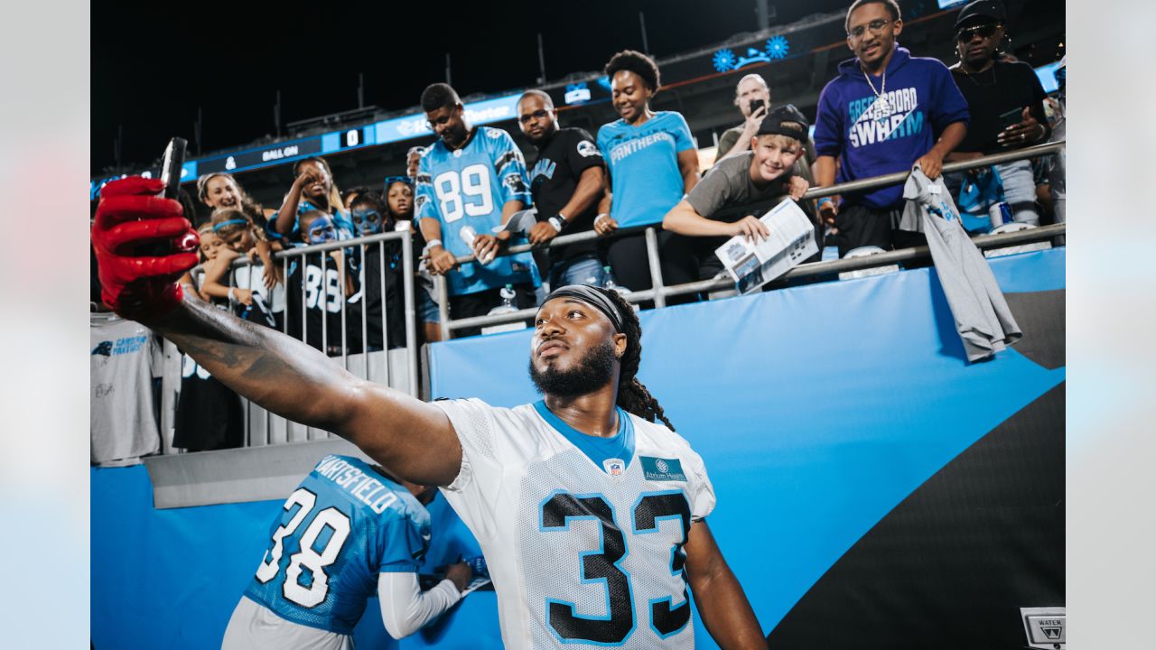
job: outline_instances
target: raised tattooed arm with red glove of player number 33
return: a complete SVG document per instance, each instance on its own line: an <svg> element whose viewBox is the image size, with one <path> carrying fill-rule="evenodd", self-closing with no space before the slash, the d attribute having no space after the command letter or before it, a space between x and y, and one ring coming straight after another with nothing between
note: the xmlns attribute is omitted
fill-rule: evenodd
<svg viewBox="0 0 1156 650"><path fill-rule="evenodd" d="M296 339L183 296L178 280L197 264L197 235L180 204L156 197L162 187L129 177L102 190L92 243L104 302L268 411L344 437L402 479L453 481L461 446L440 409L362 381ZM156 245L179 252L141 254Z"/></svg>

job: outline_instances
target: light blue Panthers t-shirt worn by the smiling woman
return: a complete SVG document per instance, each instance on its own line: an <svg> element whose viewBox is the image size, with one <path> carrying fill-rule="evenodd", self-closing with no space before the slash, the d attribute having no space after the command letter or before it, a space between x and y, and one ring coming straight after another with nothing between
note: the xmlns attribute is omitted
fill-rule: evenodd
<svg viewBox="0 0 1156 650"><path fill-rule="evenodd" d="M598 130L610 170L610 216L620 228L660 223L682 200L679 154L695 148L681 113L659 111L640 126L620 119Z"/></svg>

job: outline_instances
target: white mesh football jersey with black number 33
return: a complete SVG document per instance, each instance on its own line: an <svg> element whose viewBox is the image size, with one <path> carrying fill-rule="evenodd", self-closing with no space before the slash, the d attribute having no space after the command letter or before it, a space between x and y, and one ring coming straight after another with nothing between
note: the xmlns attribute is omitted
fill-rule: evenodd
<svg viewBox="0 0 1156 650"><path fill-rule="evenodd" d="M486 554L507 649L694 648L682 546L714 489L687 441L621 408L601 438L542 401L433 404L462 451L442 490Z"/></svg>

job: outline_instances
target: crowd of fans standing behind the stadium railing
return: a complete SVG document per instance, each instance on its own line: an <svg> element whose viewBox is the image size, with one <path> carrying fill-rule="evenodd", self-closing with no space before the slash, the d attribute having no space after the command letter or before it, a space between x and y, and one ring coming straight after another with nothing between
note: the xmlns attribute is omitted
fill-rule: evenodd
<svg viewBox="0 0 1156 650"><path fill-rule="evenodd" d="M229 173L200 178L197 198L212 216L194 223L203 264L186 276L188 290L329 354L403 347L409 341L398 241L331 248L292 256L288 264L273 254L410 231L420 260L417 332L435 341L440 338L436 275L446 279L453 319L534 306L543 283L644 290L651 288L651 272L636 227L655 226L667 286L710 279L721 272L714 250L722 241L766 235L757 215L733 208L787 195L812 216L821 250L835 246L843 257L861 246L918 245L925 242L921 234L898 229L902 184L818 201L801 197L808 187L913 167L935 178L944 162L1062 133L1065 68L1057 75L1059 96L1046 96L1035 71L1007 51L999 0L976 0L959 12L958 60L950 67L898 45L903 20L894 0L854 0L845 28L854 57L823 88L814 136L800 111L776 106L766 81L748 74L734 97L742 121L722 134L705 175L682 115L652 110L661 76L640 52L622 51L607 62L620 119L594 135L562 127L548 94L525 93L517 112L536 152L528 164L509 133L472 125L454 89L433 83L421 105L435 141L413 147L406 176L388 177L379 189L342 193L321 157L295 163L294 183L276 209L257 204ZM949 173L944 183L971 217L969 230L1064 220L1062 154ZM534 208L528 219L527 208ZM628 228L633 230L615 232ZM560 235L590 230L599 237L550 245ZM533 253L505 253L525 242L536 246ZM240 256L251 264L234 265ZM461 256L476 260L458 264Z"/></svg>

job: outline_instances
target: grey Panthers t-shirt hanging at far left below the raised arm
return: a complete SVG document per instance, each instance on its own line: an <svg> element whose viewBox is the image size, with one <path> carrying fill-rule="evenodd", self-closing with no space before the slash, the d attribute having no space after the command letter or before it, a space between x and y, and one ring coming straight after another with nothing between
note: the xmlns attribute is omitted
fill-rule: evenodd
<svg viewBox="0 0 1156 650"><path fill-rule="evenodd" d="M153 332L110 313L89 316L91 461L129 460L161 451L153 378L163 359Z"/></svg>

